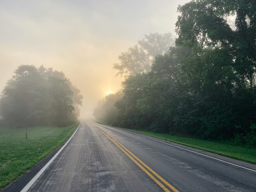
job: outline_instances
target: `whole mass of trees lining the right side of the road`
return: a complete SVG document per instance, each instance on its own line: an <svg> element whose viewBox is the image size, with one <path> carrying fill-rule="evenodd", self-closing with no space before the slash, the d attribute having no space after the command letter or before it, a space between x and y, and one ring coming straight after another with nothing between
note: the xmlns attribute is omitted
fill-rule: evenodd
<svg viewBox="0 0 256 192"><path fill-rule="evenodd" d="M255 10L250 0L179 6L176 46L156 53L149 72L144 55L166 42L164 35L145 36L140 42L149 47L138 42L137 52L122 53L120 64L114 64L118 74L127 74L122 93L101 100L95 118L123 128L255 147Z"/></svg>

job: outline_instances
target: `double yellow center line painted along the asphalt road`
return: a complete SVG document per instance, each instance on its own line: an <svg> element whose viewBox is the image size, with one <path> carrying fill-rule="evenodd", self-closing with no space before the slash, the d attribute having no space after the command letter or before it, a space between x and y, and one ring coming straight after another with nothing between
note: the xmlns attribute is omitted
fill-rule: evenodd
<svg viewBox="0 0 256 192"><path fill-rule="evenodd" d="M92 125L92 124L91 124ZM95 125L93 125L95 126ZM163 183L165 185L167 185L171 190L173 190L174 192L179 192L177 189L175 189L170 183L168 183L166 180L164 180L160 175L158 175L155 171L153 171L149 166L147 166L145 163L143 163L143 161L141 161L138 157L136 157L132 152L130 152L128 149L126 149L122 144L120 144L117 140L115 140L111 135L109 135L108 133L106 133L105 131L103 131L102 129L100 129L99 127L95 126L96 128L98 128L100 131L102 131L103 133L105 133L105 135L107 135L107 137L112 140L112 142L114 142L114 144L116 144L128 157L130 157L130 159L136 163L145 173L147 173L148 176L150 176L150 178L152 178L152 180L154 180L154 182L156 182L164 191L166 192L170 192L169 189L167 189L167 187L165 187L163 185ZM150 173L151 172L151 173ZM162 181L163 183L161 183L159 180L157 180L157 178Z"/></svg>

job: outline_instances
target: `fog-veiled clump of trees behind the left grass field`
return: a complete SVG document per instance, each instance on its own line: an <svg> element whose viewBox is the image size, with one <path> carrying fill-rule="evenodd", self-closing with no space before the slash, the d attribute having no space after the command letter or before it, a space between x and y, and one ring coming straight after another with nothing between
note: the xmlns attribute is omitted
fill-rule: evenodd
<svg viewBox="0 0 256 192"><path fill-rule="evenodd" d="M52 68L20 65L0 97L1 121L11 126L67 126L76 123L83 96Z"/></svg>

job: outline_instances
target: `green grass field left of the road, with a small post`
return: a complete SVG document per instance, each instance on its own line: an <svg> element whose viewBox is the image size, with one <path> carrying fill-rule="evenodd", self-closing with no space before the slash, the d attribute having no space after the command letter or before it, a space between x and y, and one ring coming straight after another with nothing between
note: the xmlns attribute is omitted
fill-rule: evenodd
<svg viewBox="0 0 256 192"><path fill-rule="evenodd" d="M0 190L59 147L79 124L59 127L0 128Z"/></svg>

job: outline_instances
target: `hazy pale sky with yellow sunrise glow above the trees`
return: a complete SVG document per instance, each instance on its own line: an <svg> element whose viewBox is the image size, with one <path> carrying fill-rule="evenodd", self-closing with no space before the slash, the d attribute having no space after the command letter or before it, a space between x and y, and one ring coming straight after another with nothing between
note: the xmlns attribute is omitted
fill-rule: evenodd
<svg viewBox="0 0 256 192"><path fill-rule="evenodd" d="M0 90L21 64L63 71L84 96L81 116L121 89L112 69L149 33L175 35L189 0L1 0Z"/></svg>

